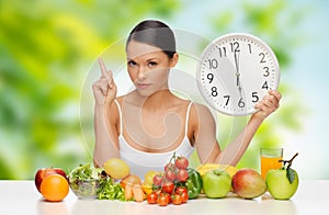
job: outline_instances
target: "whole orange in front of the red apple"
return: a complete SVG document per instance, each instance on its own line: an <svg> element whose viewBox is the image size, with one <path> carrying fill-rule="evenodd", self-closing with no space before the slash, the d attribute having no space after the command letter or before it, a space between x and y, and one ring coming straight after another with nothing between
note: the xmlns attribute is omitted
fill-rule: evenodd
<svg viewBox="0 0 329 215"><path fill-rule="evenodd" d="M63 176L50 174L42 181L39 190L47 201L59 202L67 196L69 184Z"/></svg>

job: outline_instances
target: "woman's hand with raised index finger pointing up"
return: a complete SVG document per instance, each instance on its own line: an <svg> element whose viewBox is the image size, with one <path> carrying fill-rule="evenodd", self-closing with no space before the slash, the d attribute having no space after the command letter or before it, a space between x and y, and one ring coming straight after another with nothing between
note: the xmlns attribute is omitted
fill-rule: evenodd
<svg viewBox="0 0 329 215"><path fill-rule="evenodd" d="M102 76L92 84L93 97L98 105L110 104L116 98L116 84L113 80L112 71L106 70L101 58L99 58L99 65Z"/></svg>

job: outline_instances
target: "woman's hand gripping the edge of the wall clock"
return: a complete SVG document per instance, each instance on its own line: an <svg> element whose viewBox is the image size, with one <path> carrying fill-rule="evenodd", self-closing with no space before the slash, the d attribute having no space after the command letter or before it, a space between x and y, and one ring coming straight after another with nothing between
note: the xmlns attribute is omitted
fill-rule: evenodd
<svg viewBox="0 0 329 215"><path fill-rule="evenodd" d="M259 120L264 120L271 113L276 111L279 102L281 100L281 93L275 90L270 90L260 102L254 105L254 109L259 109L252 116Z"/></svg>

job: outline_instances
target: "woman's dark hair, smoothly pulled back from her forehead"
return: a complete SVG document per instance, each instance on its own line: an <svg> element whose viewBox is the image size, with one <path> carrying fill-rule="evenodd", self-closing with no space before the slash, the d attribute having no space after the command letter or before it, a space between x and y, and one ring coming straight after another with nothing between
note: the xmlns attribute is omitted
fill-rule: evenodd
<svg viewBox="0 0 329 215"><path fill-rule="evenodd" d="M145 43L160 48L169 58L175 54L175 39L172 30L156 20L146 20L137 24L131 32L126 47L131 41Z"/></svg>

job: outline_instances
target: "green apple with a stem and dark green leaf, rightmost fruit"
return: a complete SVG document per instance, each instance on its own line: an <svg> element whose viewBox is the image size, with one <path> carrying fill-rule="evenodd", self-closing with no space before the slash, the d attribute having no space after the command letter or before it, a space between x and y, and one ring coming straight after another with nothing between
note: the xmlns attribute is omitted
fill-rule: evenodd
<svg viewBox="0 0 329 215"><path fill-rule="evenodd" d="M298 188L298 174L294 169L270 170L266 174L266 185L275 200L291 199Z"/></svg>

